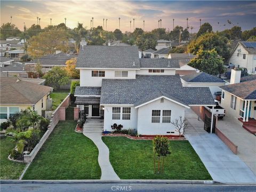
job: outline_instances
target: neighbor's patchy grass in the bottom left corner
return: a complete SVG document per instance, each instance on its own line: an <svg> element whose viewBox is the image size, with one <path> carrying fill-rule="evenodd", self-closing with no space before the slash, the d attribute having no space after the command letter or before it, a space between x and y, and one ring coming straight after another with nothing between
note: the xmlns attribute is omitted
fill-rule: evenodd
<svg viewBox="0 0 256 192"><path fill-rule="evenodd" d="M0 179L19 179L26 163L12 162L8 159L9 151L15 147L15 142L10 137L0 137Z"/></svg>

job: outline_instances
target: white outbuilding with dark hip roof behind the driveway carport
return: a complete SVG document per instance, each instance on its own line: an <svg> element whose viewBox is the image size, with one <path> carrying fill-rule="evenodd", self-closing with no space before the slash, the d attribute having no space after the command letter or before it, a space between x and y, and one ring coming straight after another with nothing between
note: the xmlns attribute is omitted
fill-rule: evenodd
<svg viewBox="0 0 256 192"><path fill-rule="evenodd" d="M204 72L185 75L180 78L185 87L209 87L213 97L215 92L221 91L220 86L226 85L222 79Z"/></svg>

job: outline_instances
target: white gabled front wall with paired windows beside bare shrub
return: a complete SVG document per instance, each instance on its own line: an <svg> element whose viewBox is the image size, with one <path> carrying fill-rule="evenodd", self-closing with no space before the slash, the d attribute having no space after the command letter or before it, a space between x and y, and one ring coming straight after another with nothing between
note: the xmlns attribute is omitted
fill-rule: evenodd
<svg viewBox="0 0 256 192"><path fill-rule="evenodd" d="M138 108L138 123L137 129L138 134L142 135L179 135L175 131L175 127L171 123L151 123L152 110L172 110L171 111L171 122L182 116L185 116L185 107L178 105L172 101L164 99L161 103L161 99L154 102L148 103L145 106ZM162 122L162 118L161 118ZM170 133L166 133L170 132ZM174 133L171 133L174 132Z"/></svg>

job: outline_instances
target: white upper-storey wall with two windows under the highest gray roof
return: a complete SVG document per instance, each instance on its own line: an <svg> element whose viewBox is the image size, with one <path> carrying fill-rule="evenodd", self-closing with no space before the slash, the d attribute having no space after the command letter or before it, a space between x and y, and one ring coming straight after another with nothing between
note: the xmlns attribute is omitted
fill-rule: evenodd
<svg viewBox="0 0 256 192"><path fill-rule="evenodd" d="M102 79L135 79L136 78L136 70L123 70L128 71L128 77L115 77L114 69L99 69L105 71L105 77L92 77L92 70L98 69L80 69L80 86L101 86Z"/></svg>

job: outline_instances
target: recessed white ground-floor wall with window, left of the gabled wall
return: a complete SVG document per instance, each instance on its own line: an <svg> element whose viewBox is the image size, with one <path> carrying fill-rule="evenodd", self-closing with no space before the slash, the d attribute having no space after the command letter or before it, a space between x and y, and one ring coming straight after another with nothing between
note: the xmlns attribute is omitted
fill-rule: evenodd
<svg viewBox="0 0 256 192"><path fill-rule="evenodd" d="M113 131L111 129L111 125L116 123L117 125L122 124L124 127L123 129L137 129L137 111L133 106L104 106L104 131ZM123 120L122 116L121 119L112 119L112 107L131 107L131 118L130 120Z"/></svg>

